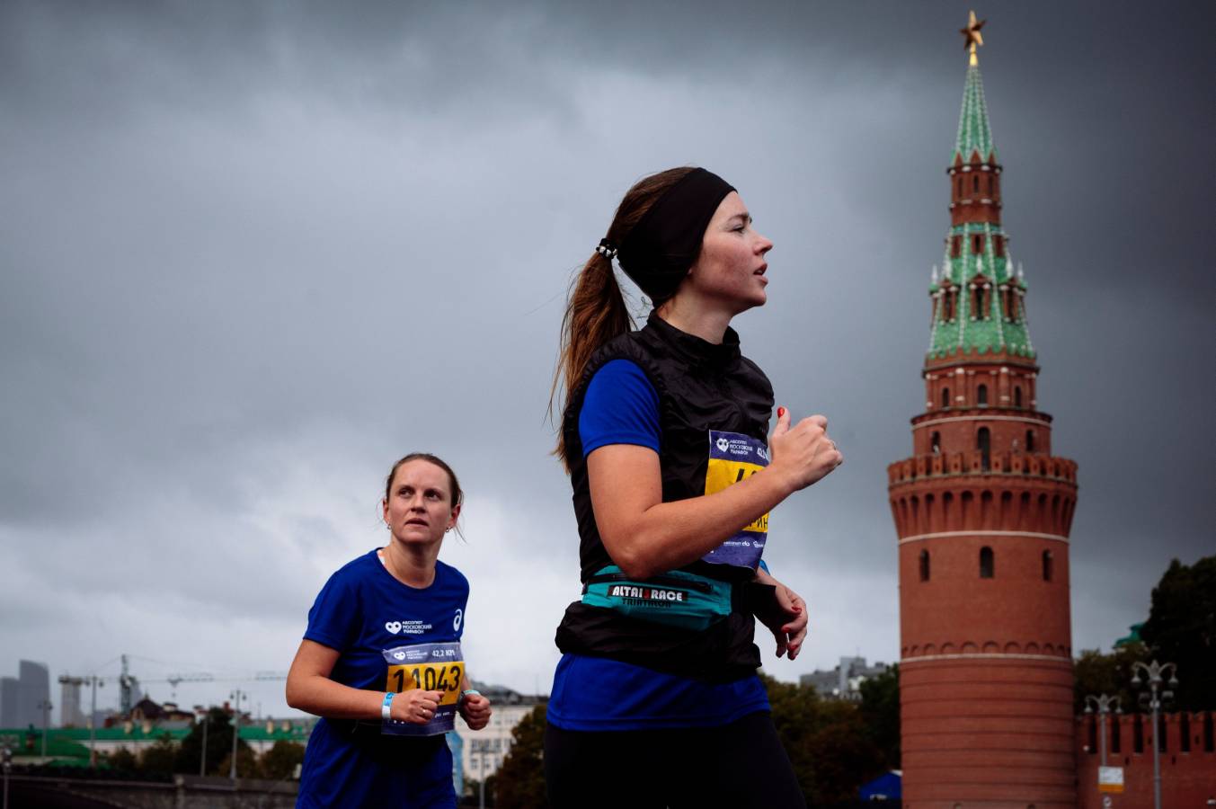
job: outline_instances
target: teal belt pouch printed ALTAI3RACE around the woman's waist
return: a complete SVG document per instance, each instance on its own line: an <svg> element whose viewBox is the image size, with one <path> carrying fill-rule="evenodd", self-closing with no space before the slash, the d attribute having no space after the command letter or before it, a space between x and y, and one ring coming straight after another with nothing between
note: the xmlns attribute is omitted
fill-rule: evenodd
<svg viewBox="0 0 1216 809"><path fill-rule="evenodd" d="M683 571L640 582L609 564L582 585L582 603L657 624L706 629L731 614L731 589L728 582Z"/></svg>

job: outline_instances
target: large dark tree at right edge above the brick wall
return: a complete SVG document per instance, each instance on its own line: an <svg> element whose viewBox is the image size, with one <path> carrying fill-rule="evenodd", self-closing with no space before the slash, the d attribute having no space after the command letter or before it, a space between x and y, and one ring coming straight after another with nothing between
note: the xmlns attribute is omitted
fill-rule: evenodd
<svg viewBox="0 0 1216 809"><path fill-rule="evenodd" d="M1178 709L1216 708L1216 556L1190 566L1170 563L1153 588L1141 637L1152 657L1177 664Z"/></svg>

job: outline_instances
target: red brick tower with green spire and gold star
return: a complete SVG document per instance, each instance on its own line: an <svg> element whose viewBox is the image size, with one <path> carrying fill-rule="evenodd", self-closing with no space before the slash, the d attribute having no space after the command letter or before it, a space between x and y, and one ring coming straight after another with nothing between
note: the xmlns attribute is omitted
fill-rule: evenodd
<svg viewBox="0 0 1216 809"><path fill-rule="evenodd" d="M973 43L979 30L972 18ZM900 552L906 809L1076 805L1068 534L1076 464L1051 454L1023 274L975 60L929 288L925 411L889 472Z"/></svg>

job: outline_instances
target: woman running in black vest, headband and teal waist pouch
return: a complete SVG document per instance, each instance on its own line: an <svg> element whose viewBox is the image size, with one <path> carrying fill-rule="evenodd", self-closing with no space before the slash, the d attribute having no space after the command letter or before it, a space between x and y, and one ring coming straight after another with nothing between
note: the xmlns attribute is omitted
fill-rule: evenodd
<svg viewBox="0 0 1216 809"><path fill-rule="evenodd" d="M629 190L568 302L557 454L584 595L557 630L556 808L804 805L753 633L793 659L806 608L760 557L769 511L843 459L822 416L778 408L765 439L772 387L730 322L765 303L771 248L732 186L670 169ZM613 258L654 305L640 331Z"/></svg>

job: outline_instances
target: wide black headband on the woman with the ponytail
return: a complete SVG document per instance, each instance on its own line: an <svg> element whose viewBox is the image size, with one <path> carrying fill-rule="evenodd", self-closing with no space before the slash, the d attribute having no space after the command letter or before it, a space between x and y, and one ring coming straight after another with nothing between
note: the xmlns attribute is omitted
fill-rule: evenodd
<svg viewBox="0 0 1216 809"><path fill-rule="evenodd" d="M634 226L617 252L620 269L655 304L663 303L688 274L700 242L730 182L693 169L668 189Z"/></svg>

